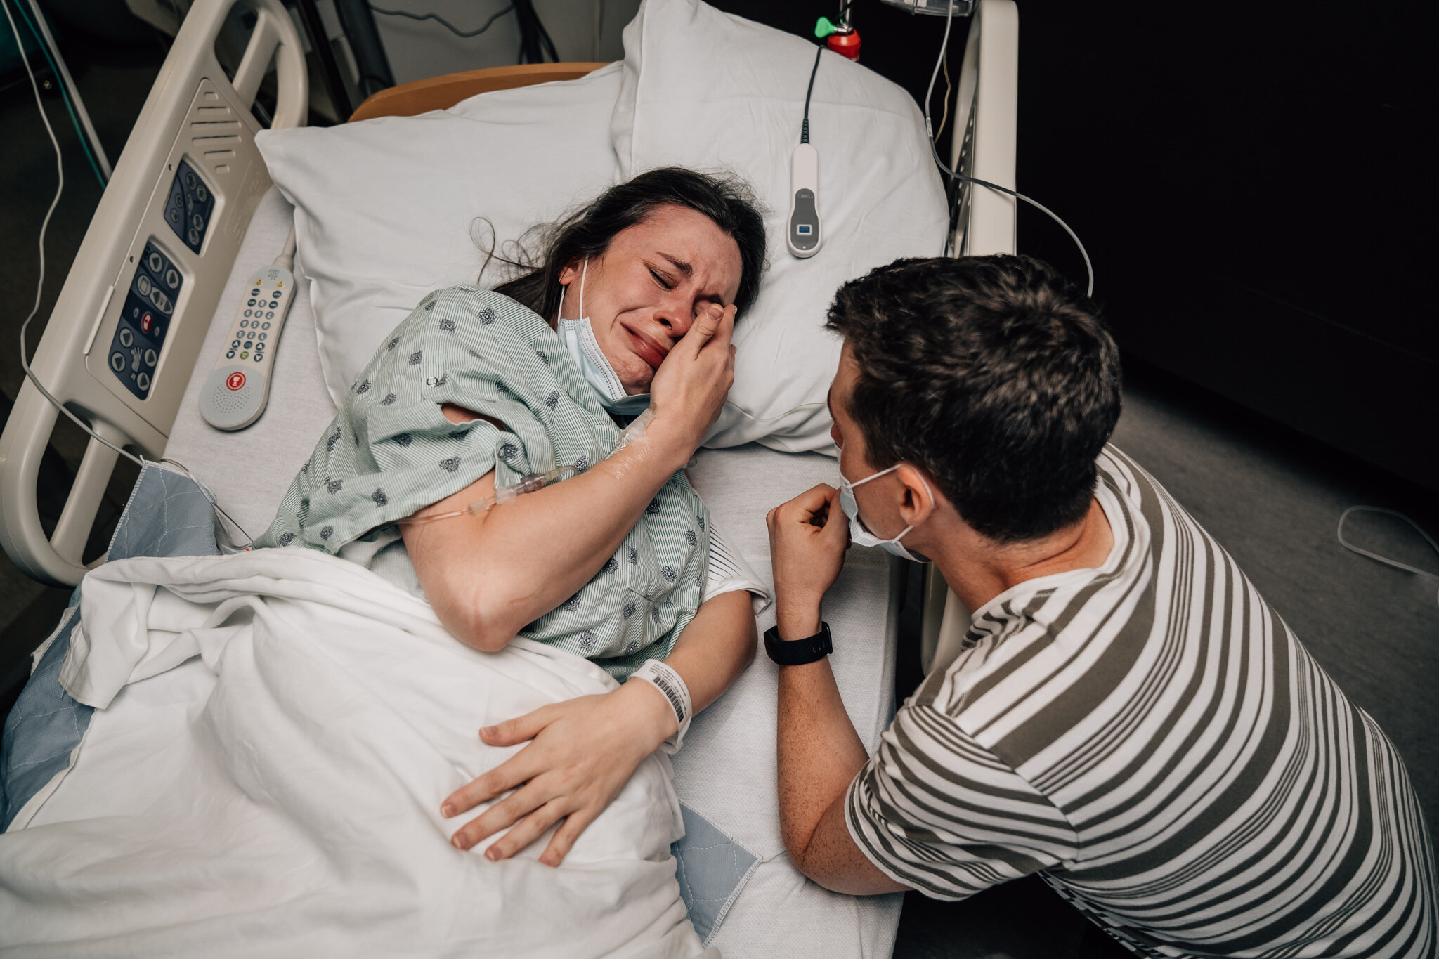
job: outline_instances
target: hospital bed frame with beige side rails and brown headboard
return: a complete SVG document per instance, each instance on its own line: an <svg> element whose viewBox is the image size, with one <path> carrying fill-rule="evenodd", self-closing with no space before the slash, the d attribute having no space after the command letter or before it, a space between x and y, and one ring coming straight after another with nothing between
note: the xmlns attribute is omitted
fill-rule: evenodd
<svg viewBox="0 0 1439 959"><path fill-rule="evenodd" d="M220 66L214 45L236 3L249 7L256 22L240 65L230 75ZM1017 50L1013 0L980 0L970 23L953 127L964 134L954 135L950 162L961 173L1010 188ZM370 96L350 121L446 109L476 93L576 79L600 66L499 66L416 81ZM281 0L197 0L190 7L35 352L32 368L50 394L106 440L148 459L164 456L240 240L271 185L255 148L262 125L252 105L272 72L276 108L271 127L304 125L309 95L304 43ZM213 196L201 239L193 244L165 221L171 191L183 173L199 177ZM1014 252L1012 197L966 184L958 210L954 249L960 254ZM137 393L111 362L121 352L122 313L127 321L138 319L128 313L135 311L137 283L148 283L141 282L140 263L148 250L160 250L173 263L180 286L157 361L147 365L150 385ZM82 551L118 454L89 440L60 519L46 536L36 482L58 416L26 380L0 436L0 545L32 578L75 585L105 561L101 556L82 564ZM931 569L922 630L925 669L957 650L966 628L968 614Z"/></svg>

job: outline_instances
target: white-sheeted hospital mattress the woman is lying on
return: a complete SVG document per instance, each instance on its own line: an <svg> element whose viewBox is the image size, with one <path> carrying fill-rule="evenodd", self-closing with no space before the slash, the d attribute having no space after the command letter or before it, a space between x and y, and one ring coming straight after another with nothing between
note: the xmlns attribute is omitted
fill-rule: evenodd
<svg viewBox="0 0 1439 959"><path fill-rule="evenodd" d="M200 417L199 390L222 351L250 272L271 263L285 246L291 216L291 206L273 188L256 210L165 450L210 487L250 536L269 525L291 479L335 416L319 372L304 250L295 269L299 295L275 355L265 414L245 430L223 433ZM837 479L829 457L758 446L702 450L691 474L725 538L766 582L766 512L816 483ZM896 577L882 551L850 549L825 604L836 643L835 676L868 749L878 745L894 712ZM760 617L758 628L773 623L771 608ZM806 880L784 853L774 726L776 666L758 656L694 720L684 749L673 756L675 786L688 807L691 830L676 845L679 881L696 930L730 959L888 956L902 899L830 893Z"/></svg>

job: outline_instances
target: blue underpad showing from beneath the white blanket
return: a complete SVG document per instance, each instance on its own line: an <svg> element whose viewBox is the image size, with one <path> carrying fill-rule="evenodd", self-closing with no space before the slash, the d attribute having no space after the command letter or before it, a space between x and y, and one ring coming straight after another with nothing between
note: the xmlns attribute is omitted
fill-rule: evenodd
<svg viewBox="0 0 1439 959"><path fill-rule="evenodd" d="M109 545L109 559L213 556L220 552L209 492L187 476L145 466ZM83 587L83 584L81 584ZM71 597L45 653L4 723L0 739L0 830L71 762L95 712L60 687L60 666L79 623L81 588ZM689 807L685 837L671 845L679 893L708 946L758 858Z"/></svg>

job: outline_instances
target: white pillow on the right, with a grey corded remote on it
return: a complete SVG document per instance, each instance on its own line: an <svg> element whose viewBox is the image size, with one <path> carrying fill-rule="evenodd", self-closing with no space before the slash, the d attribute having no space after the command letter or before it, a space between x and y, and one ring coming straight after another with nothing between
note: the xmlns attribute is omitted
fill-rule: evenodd
<svg viewBox="0 0 1439 959"><path fill-rule="evenodd" d="M758 440L835 453L825 394L840 344L823 329L835 290L944 246L944 190L918 105L825 52L809 114L823 243L807 260L790 256L790 155L813 66L813 43L699 0L645 0L625 27L625 88L612 127L620 180L671 164L732 170L768 207L770 270L735 328L734 388L705 446Z"/></svg>

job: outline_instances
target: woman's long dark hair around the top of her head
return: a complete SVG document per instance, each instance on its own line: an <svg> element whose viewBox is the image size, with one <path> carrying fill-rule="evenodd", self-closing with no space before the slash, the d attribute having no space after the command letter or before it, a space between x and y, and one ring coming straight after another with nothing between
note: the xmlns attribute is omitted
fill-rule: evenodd
<svg viewBox="0 0 1439 959"><path fill-rule="evenodd" d="M519 256L495 257L522 270L515 279L496 286L495 292L554 322L561 296L560 270L576 260L602 256L617 233L642 223L663 206L702 213L734 239L740 247L740 292L734 305L738 313L744 313L760 292L760 275L764 272L764 219L754 193L738 177L682 167L642 173L610 187L563 220L537 227L537 250L527 252L521 242Z"/></svg>

